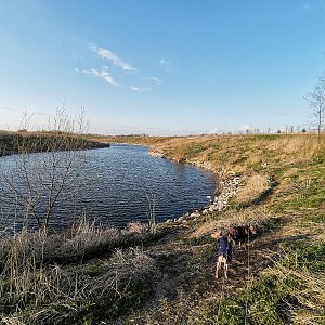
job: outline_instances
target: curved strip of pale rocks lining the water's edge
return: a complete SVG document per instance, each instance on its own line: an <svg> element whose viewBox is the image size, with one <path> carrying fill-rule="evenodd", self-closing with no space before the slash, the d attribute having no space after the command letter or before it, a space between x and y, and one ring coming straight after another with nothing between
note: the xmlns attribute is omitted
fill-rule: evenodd
<svg viewBox="0 0 325 325"><path fill-rule="evenodd" d="M154 157L158 158L165 158L174 160L172 157L167 157L162 153L150 151L148 154ZM227 202L230 198L236 195L239 183L240 183L240 177L236 176L233 171L227 170L220 170L217 171L212 168L211 164L209 161L188 161L185 160L183 162L197 166L199 168L206 169L208 171L211 171L216 173L217 176L217 190L214 197L210 199L210 204L202 209L195 209L190 210L185 214L176 218L176 219L169 219L166 222L181 222L186 223L187 219L195 220L196 218L200 218L202 216L210 214L213 212L220 212L224 210L227 206Z"/></svg>

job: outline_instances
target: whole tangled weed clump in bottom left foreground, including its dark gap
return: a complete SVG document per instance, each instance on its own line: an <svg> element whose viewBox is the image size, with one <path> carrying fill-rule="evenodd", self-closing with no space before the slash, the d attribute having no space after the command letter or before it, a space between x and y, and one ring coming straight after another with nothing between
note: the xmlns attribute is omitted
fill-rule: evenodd
<svg viewBox="0 0 325 325"><path fill-rule="evenodd" d="M63 234L2 239L0 324L98 324L141 306L155 291L157 269L141 248L126 244L148 236L82 221Z"/></svg>

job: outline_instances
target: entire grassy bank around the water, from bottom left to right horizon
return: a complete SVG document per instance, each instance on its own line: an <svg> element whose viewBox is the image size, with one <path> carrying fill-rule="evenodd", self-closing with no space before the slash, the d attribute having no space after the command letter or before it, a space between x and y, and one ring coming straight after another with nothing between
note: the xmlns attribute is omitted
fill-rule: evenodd
<svg viewBox="0 0 325 325"><path fill-rule="evenodd" d="M162 224L155 235L83 224L3 239L3 324L324 324L324 136L96 140L145 144L239 176L237 194L225 210ZM258 236L235 249L230 280L217 281L210 234L243 223Z"/></svg>

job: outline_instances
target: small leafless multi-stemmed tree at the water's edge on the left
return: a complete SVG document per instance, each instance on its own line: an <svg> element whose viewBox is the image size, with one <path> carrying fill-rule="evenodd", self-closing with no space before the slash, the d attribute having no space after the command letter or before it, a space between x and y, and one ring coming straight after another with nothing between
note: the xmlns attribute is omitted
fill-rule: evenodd
<svg viewBox="0 0 325 325"><path fill-rule="evenodd" d="M29 117L24 120L27 130ZM87 147L82 136L86 128L83 112L74 119L63 107L49 121L46 132L17 132L14 136L17 155L0 166L1 200L20 207L23 225L48 230L55 208L78 188L87 156L80 150ZM42 154L35 154L38 152Z"/></svg>

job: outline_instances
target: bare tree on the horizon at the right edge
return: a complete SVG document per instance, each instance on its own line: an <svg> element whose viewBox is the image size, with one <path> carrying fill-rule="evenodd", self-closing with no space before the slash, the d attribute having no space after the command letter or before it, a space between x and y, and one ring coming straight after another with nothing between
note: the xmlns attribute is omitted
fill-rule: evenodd
<svg viewBox="0 0 325 325"><path fill-rule="evenodd" d="M324 114L325 114L325 75L318 78L318 81L313 92L308 93L304 98L312 110L313 121L312 126L315 128L318 142L321 140L321 132L323 130Z"/></svg>

